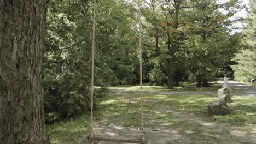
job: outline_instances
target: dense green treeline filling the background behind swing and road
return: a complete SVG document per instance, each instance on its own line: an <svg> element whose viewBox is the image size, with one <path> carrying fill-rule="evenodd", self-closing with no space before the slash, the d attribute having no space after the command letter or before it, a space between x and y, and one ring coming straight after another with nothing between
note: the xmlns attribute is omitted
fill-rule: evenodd
<svg viewBox="0 0 256 144"><path fill-rule="evenodd" d="M139 80L136 3L97 2L95 106L108 93L109 85L133 85ZM198 85L208 86L214 77L232 76L230 65L240 64L237 59L248 51L235 56L247 49L243 48L247 45L242 43L243 34L234 32L233 24L240 19L230 18L241 9L236 0L222 4L212 0L144 1L144 81L150 78L154 85L171 89L181 81L196 79ZM90 110L92 2L52 0L47 14L44 109L46 120L53 122ZM255 13L250 17L255 37ZM246 32L246 37L251 36ZM253 51L252 46L248 49ZM231 61L233 57L238 63ZM238 79L241 72L235 76Z"/></svg>

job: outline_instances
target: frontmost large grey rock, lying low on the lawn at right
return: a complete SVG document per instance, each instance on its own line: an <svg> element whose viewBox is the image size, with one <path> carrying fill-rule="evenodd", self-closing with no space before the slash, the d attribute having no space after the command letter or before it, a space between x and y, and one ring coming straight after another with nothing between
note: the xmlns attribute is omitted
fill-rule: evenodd
<svg viewBox="0 0 256 144"><path fill-rule="evenodd" d="M208 105L207 113L210 115L229 115L231 112L224 99L214 100Z"/></svg>

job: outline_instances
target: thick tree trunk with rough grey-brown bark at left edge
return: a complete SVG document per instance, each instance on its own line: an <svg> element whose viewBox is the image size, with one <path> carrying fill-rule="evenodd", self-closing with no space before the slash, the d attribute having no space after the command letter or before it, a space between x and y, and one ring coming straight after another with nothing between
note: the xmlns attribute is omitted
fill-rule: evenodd
<svg viewBox="0 0 256 144"><path fill-rule="evenodd" d="M0 143L49 143L42 57L48 0L0 1Z"/></svg>

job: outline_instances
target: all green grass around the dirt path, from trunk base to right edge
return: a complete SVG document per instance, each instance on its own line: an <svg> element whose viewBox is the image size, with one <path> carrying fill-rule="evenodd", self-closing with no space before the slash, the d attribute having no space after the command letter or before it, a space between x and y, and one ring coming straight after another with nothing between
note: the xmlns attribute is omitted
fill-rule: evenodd
<svg viewBox="0 0 256 144"><path fill-rule="evenodd" d="M172 115L172 112L159 112L159 106L167 106L168 109L183 113L194 113L213 122L211 116L206 113L210 101L217 96L203 95L168 95L168 94L144 94L144 113L153 115L156 119L169 124L191 140L212 140L216 131L205 130L196 123L187 123ZM242 126L245 130L256 128L256 97L233 96L233 103L229 104L232 114L228 116L216 116L217 122L224 122L234 126ZM109 96L97 106L95 121L109 125L123 125L124 127L137 127L139 125L139 94L138 93L110 93ZM159 110L160 111L160 110ZM151 113L151 114L150 114ZM147 117L144 118L146 126L150 126ZM69 119L56 122L48 126L51 143L81 143L86 137L89 128L89 116L83 115L77 119ZM203 134L200 131L204 130ZM193 132L193 133L192 133ZM216 136L216 140L218 136Z"/></svg>

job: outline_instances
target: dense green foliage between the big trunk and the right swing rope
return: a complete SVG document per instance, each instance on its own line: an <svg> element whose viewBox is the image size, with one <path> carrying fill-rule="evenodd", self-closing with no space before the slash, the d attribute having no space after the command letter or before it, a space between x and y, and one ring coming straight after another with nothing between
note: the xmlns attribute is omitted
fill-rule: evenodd
<svg viewBox="0 0 256 144"><path fill-rule="evenodd" d="M120 9L121 8L121 9ZM109 84L137 80L136 9L124 1L97 2L94 107ZM92 2L53 0L44 52L44 109L48 121L90 111Z"/></svg>

